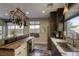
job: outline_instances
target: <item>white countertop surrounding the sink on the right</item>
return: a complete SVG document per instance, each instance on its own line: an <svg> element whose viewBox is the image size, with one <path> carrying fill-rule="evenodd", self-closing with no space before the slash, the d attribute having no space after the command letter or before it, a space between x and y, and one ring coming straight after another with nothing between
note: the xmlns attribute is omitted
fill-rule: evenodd
<svg viewBox="0 0 79 59"><path fill-rule="evenodd" d="M58 49L58 51L61 53L62 56L79 56L79 52L67 52L67 51L64 51L60 45L57 44L57 42L64 42L64 43L67 43L66 40L63 40L63 39L56 39L56 38L52 38L51 37L51 40L52 42L54 43L54 45L56 46L56 48Z"/></svg>

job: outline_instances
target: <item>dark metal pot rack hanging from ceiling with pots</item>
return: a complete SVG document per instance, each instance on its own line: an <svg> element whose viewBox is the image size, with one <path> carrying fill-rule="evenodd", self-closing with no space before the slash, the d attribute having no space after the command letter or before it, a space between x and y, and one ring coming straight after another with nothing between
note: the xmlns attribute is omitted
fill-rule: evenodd
<svg viewBox="0 0 79 59"><path fill-rule="evenodd" d="M26 14L21 11L20 8L10 11L9 13L10 21L14 24L21 26L26 26L26 20L29 19Z"/></svg>

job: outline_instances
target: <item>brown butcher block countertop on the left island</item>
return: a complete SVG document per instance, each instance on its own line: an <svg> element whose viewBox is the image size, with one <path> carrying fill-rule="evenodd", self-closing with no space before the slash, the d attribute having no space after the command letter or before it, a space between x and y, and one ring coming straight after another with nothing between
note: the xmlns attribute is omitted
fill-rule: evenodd
<svg viewBox="0 0 79 59"><path fill-rule="evenodd" d="M20 47L25 41L28 41L30 39L32 39L33 37L28 37L22 40L18 40L9 44L4 44L0 46L0 49L10 49L10 50L15 50L18 47Z"/></svg>

